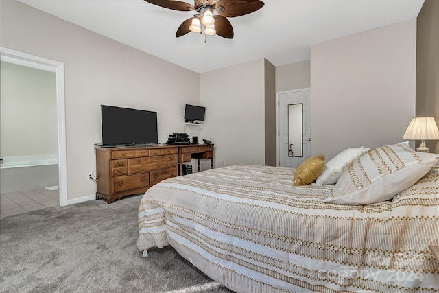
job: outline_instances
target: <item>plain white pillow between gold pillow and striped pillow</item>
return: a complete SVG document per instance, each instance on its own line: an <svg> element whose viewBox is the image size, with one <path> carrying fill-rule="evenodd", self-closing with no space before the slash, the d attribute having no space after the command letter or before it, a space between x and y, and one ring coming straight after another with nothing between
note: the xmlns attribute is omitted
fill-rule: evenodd
<svg viewBox="0 0 439 293"><path fill-rule="evenodd" d="M338 178L342 175L344 169L348 167L352 161L366 154L370 148L348 148L324 165L322 174L318 176L315 185L326 185L337 183Z"/></svg>

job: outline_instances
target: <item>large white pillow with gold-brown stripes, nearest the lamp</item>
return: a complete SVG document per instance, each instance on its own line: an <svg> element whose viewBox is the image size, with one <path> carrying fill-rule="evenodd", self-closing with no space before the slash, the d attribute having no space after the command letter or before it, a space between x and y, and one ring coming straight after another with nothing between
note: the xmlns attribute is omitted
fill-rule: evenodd
<svg viewBox="0 0 439 293"><path fill-rule="evenodd" d="M385 145L353 161L325 201L372 204L390 200L414 185L438 161L438 154Z"/></svg>

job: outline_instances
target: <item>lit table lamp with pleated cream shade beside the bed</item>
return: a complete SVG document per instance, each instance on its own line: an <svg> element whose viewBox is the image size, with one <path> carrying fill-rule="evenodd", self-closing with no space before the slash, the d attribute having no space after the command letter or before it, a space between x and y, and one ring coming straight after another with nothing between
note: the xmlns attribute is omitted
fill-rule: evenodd
<svg viewBox="0 0 439 293"><path fill-rule="evenodd" d="M417 152L428 152L425 140L439 139L439 130L433 117L415 117L410 121L403 139L418 139L421 141Z"/></svg>

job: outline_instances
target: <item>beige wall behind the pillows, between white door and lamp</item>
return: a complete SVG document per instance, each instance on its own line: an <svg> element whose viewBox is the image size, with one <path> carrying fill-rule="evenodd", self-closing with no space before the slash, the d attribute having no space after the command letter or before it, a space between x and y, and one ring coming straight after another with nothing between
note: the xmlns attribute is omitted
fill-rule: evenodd
<svg viewBox="0 0 439 293"><path fill-rule="evenodd" d="M399 143L414 117L416 19L311 46L311 154Z"/></svg>

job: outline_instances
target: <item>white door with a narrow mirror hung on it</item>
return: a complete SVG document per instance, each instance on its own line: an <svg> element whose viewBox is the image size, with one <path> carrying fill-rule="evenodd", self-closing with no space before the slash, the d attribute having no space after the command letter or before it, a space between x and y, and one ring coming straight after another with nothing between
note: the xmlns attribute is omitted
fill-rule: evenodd
<svg viewBox="0 0 439 293"><path fill-rule="evenodd" d="M277 93L278 101L278 165L281 167L298 167L300 163L309 158L311 153L310 123L310 98L309 89L283 91ZM288 105L303 104L303 156L288 156Z"/></svg>

